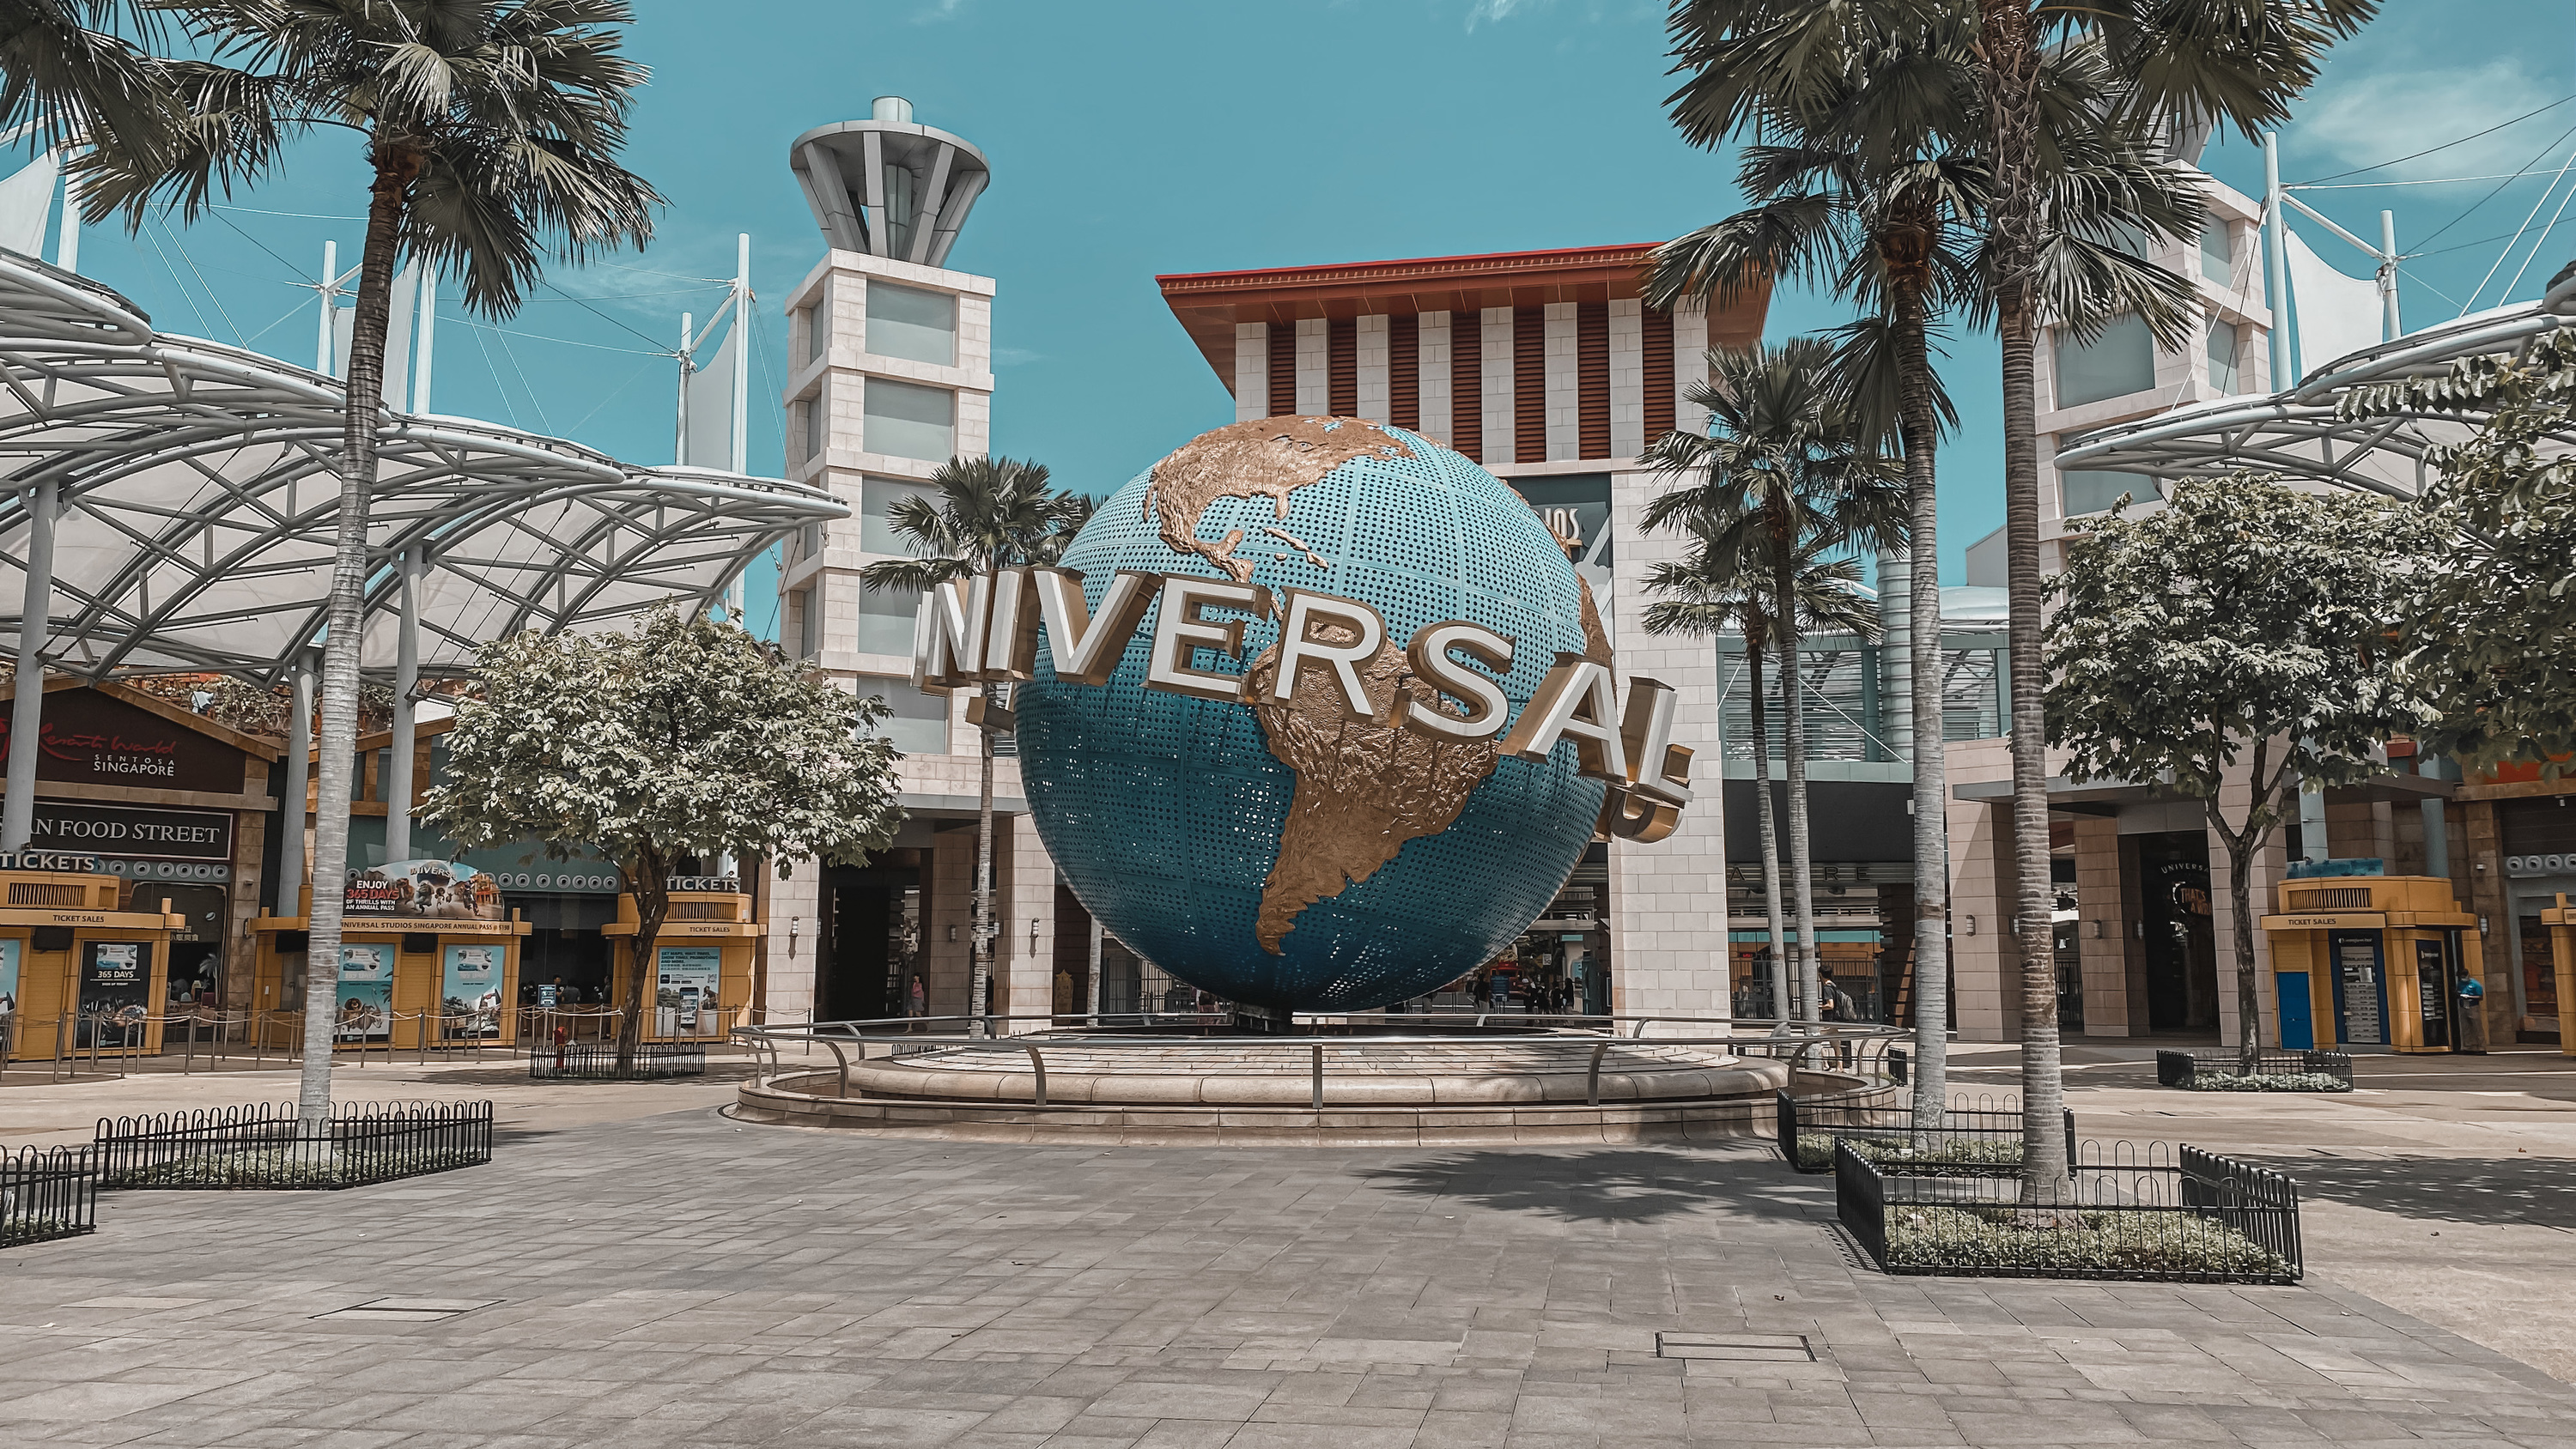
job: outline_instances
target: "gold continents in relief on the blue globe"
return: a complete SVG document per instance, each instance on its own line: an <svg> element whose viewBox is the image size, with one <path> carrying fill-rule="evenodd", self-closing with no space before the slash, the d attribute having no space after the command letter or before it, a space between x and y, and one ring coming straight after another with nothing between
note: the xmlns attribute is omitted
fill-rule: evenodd
<svg viewBox="0 0 2576 1449"><path fill-rule="evenodd" d="M1316 569L1332 564L1296 535L1293 494L1352 458L1412 458L1412 448L1373 422L1350 417L1260 417L1195 438L1154 466L1146 510L1157 533L1175 553L1206 558L1234 582L1252 582L1252 561L1236 556L1244 530L1224 540L1198 538L1198 520L1221 497L1273 499L1283 548L1293 548ZM1278 553L1278 556L1285 556ZM1610 646L1584 589L1584 651L1607 659ZM1347 641L1332 625L1324 638ZM1244 669L1244 697L1260 700L1278 674L1278 643L1252 656ZM1278 857L1262 880L1255 937L1280 955L1280 942L1296 929L1296 916L1316 901L1340 896L1378 872L1404 849L1404 842L1450 829L1499 762L1492 739L1445 741L1388 723L1396 690L1463 713L1412 679L1399 641L1388 638L1360 667L1370 718L1350 721L1327 690L1301 690L1285 705L1252 705L1270 754L1296 777L1288 821L1280 826Z"/></svg>

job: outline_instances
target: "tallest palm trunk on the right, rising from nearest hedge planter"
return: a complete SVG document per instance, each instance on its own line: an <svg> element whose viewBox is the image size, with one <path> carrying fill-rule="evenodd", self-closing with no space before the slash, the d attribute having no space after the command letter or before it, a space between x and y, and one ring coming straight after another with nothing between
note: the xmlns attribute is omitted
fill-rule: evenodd
<svg viewBox="0 0 2576 1449"><path fill-rule="evenodd" d="M2022 965L2022 1194L2069 1186L2066 1078L2058 1060L2056 891L2048 883L2048 713L2040 700L2040 438L2030 270L2038 216L2038 26L2030 0L1984 0L1978 54L1994 116L1991 268L2004 345L2004 569L2012 646L2014 950Z"/></svg>

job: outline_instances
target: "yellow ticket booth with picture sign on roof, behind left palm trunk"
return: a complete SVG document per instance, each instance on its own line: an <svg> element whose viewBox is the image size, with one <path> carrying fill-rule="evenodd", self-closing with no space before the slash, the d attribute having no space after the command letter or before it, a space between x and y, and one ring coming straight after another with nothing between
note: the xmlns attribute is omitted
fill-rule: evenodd
<svg viewBox="0 0 2576 1449"><path fill-rule="evenodd" d="M304 916L258 916L258 1004L291 1045L309 981ZM471 865L402 860L353 870L340 916L332 1048L510 1045L528 921Z"/></svg>

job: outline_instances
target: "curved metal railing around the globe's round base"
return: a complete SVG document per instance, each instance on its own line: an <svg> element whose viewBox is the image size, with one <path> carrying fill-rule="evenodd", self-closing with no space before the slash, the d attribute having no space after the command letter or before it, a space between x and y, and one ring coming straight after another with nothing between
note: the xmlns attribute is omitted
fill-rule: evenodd
<svg viewBox="0 0 2576 1449"><path fill-rule="evenodd" d="M734 1027L734 1040L750 1048L755 1055L768 1060L765 1078L786 1076L783 1053L804 1050L811 1055L814 1048L832 1053L835 1071L835 1096L853 1099L850 1094L850 1050L858 1050L858 1060L868 1060L868 1048L886 1048L884 1055L917 1055L930 1050L992 1050L1025 1055L1033 1076L1033 1107L1046 1107L1046 1048L1079 1045L1084 1050L1144 1050L1144 1048L1182 1048L1182 1050L1303 1050L1311 1081L1311 1107L1324 1109L1324 1068L1327 1053L1358 1053L1368 1055L1381 1048L1406 1048L1406 1050L1466 1050L1489 1048L1494 1042L1525 1040L1525 1042L1577 1042L1589 1045L1584 1066L1584 1107L1597 1109L1602 1063L1615 1045L1654 1045L1654 1048L1726 1048L1728 1055L1772 1058L1790 1063L1793 1071L1842 1071L1860 1076L1865 1081L1886 1081L1886 1050L1891 1042L1909 1040L1911 1032L1896 1027L1814 1027L1790 1024L1788 1029L1772 1019L1736 1019L1736 1017L1520 1017L1510 1014L1510 1024L1502 1024L1499 1011L1458 1011L1466 1029L1461 1032L1383 1032L1360 1029L1381 1022L1376 1014L1332 1014L1309 1019L1316 1032L1288 1035L1288 1032L1255 1032L1255 1035L1144 1035L1151 1029L1151 1017L1128 1017L1136 1022L1139 1035L1126 1035L1118 1024L1105 1029L1087 1029L1079 1037L1064 1040L1051 1037L1051 1032L1018 1032L994 1035L994 1027L1012 1022L1043 1022L1048 1027L1064 1022L1103 1022L1105 1017L1059 1017L1059 1014L976 1014L976 1017L881 1017L863 1022L806 1022L793 1027ZM1394 1014L1383 1017L1386 1024L1414 1024L1422 1014ZM1121 1019L1126 1022L1126 1019ZM1533 1029L1533 1022L1548 1024L1546 1029ZM956 1035L940 1035L933 1027L961 1024ZM1620 1024L1633 1029L1623 1037ZM1656 1035L1649 1037L1651 1024L1718 1024L1726 1027L1723 1035ZM1736 1032L1744 1027L1744 1032Z"/></svg>

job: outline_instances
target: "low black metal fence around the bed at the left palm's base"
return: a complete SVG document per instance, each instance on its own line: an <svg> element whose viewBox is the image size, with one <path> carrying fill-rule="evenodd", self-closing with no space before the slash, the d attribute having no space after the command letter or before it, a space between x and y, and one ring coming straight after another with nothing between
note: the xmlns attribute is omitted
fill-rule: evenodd
<svg viewBox="0 0 2576 1449"><path fill-rule="evenodd" d="M98 1186L337 1189L492 1161L489 1102L345 1102L304 1127L294 1102L98 1122Z"/></svg>

